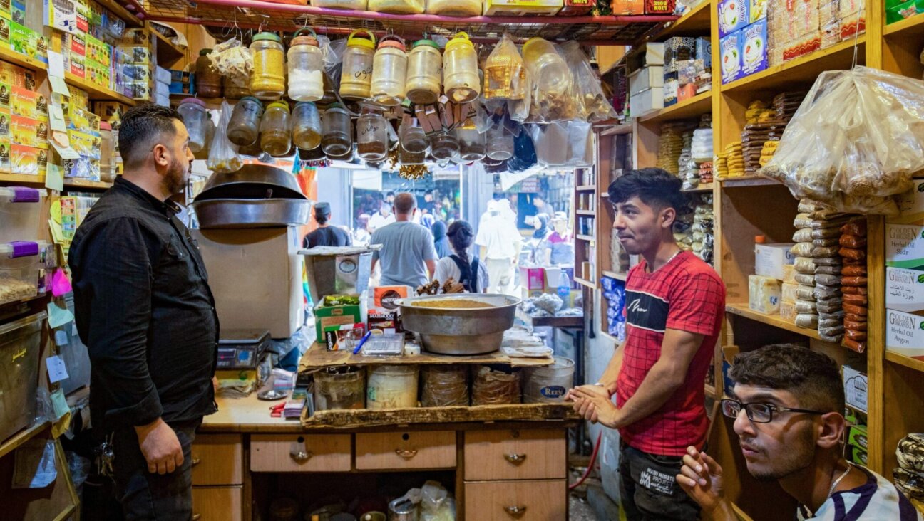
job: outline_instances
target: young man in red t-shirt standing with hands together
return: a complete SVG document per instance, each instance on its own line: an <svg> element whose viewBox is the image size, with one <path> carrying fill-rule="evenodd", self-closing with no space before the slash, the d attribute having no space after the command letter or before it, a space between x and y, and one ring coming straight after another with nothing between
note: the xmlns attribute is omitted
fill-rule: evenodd
<svg viewBox="0 0 924 521"><path fill-rule="evenodd" d="M610 184L613 228L631 255L626 342L596 385L568 397L584 418L619 429L620 492L629 519L696 519L699 506L677 485L687 446L706 444L706 371L725 308L718 274L674 241L687 206L681 181L661 169ZM616 403L612 401L616 397Z"/></svg>

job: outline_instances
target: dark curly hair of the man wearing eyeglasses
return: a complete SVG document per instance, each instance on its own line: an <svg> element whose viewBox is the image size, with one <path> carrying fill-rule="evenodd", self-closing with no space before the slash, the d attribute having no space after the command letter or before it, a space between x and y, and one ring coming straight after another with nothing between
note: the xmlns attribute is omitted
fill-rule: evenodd
<svg viewBox="0 0 924 521"><path fill-rule="evenodd" d="M844 383L837 362L795 344L775 344L735 357L729 376L735 384L789 391L799 408L844 412Z"/></svg>

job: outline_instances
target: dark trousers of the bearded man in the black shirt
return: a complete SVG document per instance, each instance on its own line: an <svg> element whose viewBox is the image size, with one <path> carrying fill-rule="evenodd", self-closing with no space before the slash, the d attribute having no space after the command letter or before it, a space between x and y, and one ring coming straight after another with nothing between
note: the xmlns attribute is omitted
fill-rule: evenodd
<svg viewBox="0 0 924 521"><path fill-rule="evenodd" d="M134 429L113 436L116 497L128 520L188 521L192 517L192 455L190 448L202 420L170 423L183 447L183 465L167 474L148 471Z"/></svg>

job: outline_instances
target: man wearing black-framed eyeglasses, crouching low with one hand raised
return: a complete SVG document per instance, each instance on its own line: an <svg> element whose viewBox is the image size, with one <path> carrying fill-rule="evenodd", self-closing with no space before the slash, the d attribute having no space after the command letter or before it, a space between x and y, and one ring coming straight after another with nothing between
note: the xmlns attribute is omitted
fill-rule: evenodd
<svg viewBox="0 0 924 521"><path fill-rule="evenodd" d="M844 386L831 358L767 346L736 356L730 376L735 387L722 412L735 419L748 472L796 498L796 519L922 520L892 483L842 456ZM722 468L705 452L688 447L676 480L711 519L737 519Z"/></svg>

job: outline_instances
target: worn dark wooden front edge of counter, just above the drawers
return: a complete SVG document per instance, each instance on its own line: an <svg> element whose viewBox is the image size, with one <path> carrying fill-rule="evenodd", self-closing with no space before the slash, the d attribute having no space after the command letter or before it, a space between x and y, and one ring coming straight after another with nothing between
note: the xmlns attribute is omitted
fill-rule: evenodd
<svg viewBox="0 0 924 521"><path fill-rule="evenodd" d="M332 409L319 410L301 422L306 430L356 429L381 425L445 424L495 421L580 420L571 404L510 404L411 409Z"/></svg>

